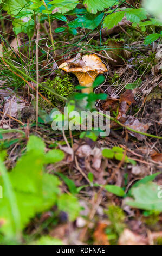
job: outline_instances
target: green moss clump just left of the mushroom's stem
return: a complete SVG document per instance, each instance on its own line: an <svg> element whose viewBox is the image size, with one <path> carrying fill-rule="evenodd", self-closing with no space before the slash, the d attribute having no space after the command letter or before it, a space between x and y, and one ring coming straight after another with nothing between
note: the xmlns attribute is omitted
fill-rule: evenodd
<svg viewBox="0 0 162 256"><path fill-rule="evenodd" d="M44 84L48 86L51 89L54 89L55 92L61 96L68 97L75 91L74 84L72 84L72 78L68 77L67 74L61 75L60 70L56 71L57 76L54 78L53 81L47 80ZM60 103L63 103L63 101L59 98L56 98L55 95L51 94L47 89L41 88L40 93L47 97L53 105L57 106ZM42 99L40 99L40 103L45 103L48 105L48 103ZM42 105L42 104L41 104Z"/></svg>

